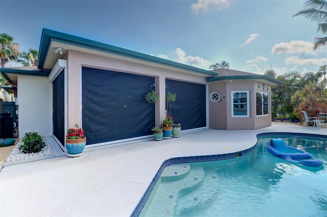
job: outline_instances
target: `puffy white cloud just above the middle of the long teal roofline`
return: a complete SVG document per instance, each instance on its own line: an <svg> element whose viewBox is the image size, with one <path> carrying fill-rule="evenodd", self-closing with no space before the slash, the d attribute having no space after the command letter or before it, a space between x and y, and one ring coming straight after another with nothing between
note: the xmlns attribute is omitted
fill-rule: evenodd
<svg viewBox="0 0 327 217"><path fill-rule="evenodd" d="M191 65L198 68L208 69L211 63L201 57L186 56L186 52L181 48L175 49L173 52L176 62Z"/></svg>

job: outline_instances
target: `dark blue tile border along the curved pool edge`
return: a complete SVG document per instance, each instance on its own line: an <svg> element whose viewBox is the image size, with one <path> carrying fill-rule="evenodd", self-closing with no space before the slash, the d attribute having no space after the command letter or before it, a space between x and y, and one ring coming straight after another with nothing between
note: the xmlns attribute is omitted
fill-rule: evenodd
<svg viewBox="0 0 327 217"><path fill-rule="evenodd" d="M256 135L256 138L262 138L262 137L309 137L309 138L320 138L320 139L326 139L327 140L327 135L320 135L320 134L310 134L310 133L296 133L296 132L265 132L265 133L260 133ZM130 215L131 217L136 217L138 216L145 203L147 202L152 189L154 188L154 185L158 181L162 171L169 166L173 164L187 164L191 162L205 162L205 161L217 161L217 160L226 160L226 159L232 159L236 158L238 156L244 156L249 153L252 153L255 148L256 144L252 146L251 148L248 148L243 151L238 151L238 152L233 152L233 153L227 153L227 154L212 154L212 155L200 155L200 156L186 156L186 157L173 157L170 159L165 160L161 167L159 168L158 172L155 174L154 178L152 179L149 187L147 188L147 191L144 193L143 197L141 200L138 202L137 206L133 210L132 214Z"/></svg>

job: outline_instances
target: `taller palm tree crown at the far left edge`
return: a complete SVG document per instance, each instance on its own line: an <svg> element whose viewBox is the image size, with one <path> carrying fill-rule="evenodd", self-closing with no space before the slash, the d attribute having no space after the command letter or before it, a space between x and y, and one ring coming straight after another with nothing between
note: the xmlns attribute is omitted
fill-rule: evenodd
<svg viewBox="0 0 327 217"><path fill-rule="evenodd" d="M14 40L7 33L0 34L1 68L4 68L9 60L16 61L20 55L20 45L14 43Z"/></svg>

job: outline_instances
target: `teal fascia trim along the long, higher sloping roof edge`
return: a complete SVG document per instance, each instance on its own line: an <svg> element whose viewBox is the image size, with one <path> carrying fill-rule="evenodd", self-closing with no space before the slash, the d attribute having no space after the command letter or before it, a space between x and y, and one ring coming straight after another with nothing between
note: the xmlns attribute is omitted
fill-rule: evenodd
<svg viewBox="0 0 327 217"><path fill-rule="evenodd" d="M41 69L43 67L45 56L46 56L46 53L48 53L48 49L49 49L51 40L61 40L61 41L65 41L68 44L77 44L82 47L87 47L89 49L95 49L95 50L101 50L104 52L112 53L114 55L119 55L119 56L128 57L128 58L132 58L132 59L152 62L152 63L165 65L165 66L171 66L171 67L175 67L175 68L179 68L179 69L191 70L191 71L194 71L197 73L207 74L207 75L211 75L211 76L218 75L218 73L213 72L213 71L200 69L197 67L173 62L173 61L166 60L166 59L161 59L161 58L154 57L151 55L147 55L145 53L136 52L133 50L128 50L125 48L116 47L116 46L105 44L102 42L97 42L97 41L93 41L90 39L85 39L85 38L81 38L78 36L73 36L73 35L57 32L57 31L53 31L53 30L49 30L49 29L43 29L43 31L42 31L40 47L39 47L39 56L38 56L38 62L37 62L37 67L39 69Z"/></svg>

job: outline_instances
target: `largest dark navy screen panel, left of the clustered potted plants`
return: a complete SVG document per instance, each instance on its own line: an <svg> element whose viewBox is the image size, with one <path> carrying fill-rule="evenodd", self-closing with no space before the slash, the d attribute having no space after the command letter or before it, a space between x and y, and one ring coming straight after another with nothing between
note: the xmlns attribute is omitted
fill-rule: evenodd
<svg viewBox="0 0 327 217"><path fill-rule="evenodd" d="M145 101L154 77L82 67L87 145L152 134L155 107Z"/></svg>

